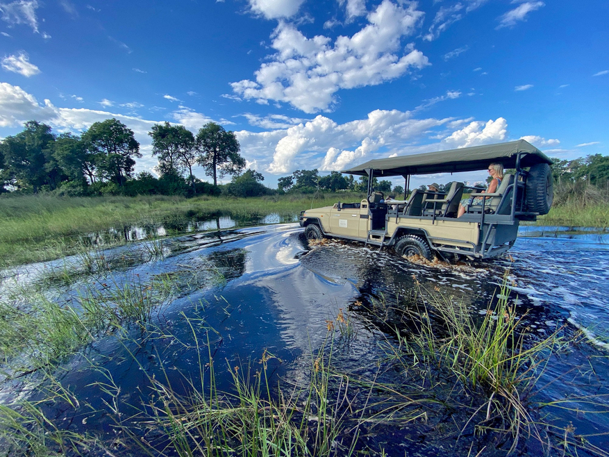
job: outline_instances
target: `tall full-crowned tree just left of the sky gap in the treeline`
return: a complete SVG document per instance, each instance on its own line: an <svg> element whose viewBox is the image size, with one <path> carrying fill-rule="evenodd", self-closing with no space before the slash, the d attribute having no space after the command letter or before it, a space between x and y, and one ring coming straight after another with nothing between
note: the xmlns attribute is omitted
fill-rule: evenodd
<svg viewBox="0 0 609 457"><path fill-rule="evenodd" d="M89 153L99 154L98 167L104 178L124 185L133 174L134 157L142 157L133 131L117 119L95 122L83 133Z"/></svg>

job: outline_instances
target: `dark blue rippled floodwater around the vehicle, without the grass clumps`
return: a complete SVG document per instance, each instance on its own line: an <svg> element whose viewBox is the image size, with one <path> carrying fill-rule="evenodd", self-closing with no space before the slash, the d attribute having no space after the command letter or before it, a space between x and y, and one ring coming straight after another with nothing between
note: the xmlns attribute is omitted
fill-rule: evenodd
<svg viewBox="0 0 609 457"><path fill-rule="evenodd" d="M231 227L226 224L220 227ZM200 381L199 367L205 367L209 358L215 361L219 390L231 389L229 371L235 367L259 369L265 351L274 356L269 360L274 380L296 381L306 376L310 354L327 338L328 320L342 312L349 314L356 332L338 352L335 369L372 379L378 367L370 361L383 358L382 345L393 342L386 323L366 313L360 304L398 304L412 294L416 281L426 290L458 297L472 313L483 314L510 269L510 301L517 313L526 314L533 335L542 338L562 325L569 333L581 329L586 335L568 353L551 358L537 381L537 401L569 400L560 408L545 408L544 421L558 431L572 424L576 433L600 449L609 449L607 233L527 226L521 228L506 258L437 266L410 263L362 244L329 242L309 249L297 224L212 233L200 233L200 229L156 244L136 241L107 249L103 270L85 270L81 257L73 256L21 267L3 281L0 293L15 283L50 284L47 296L71 306L78 306L79 297L91 290L103 294L128 283L172 281L171 296L151 317L162 338L142 340L138 326L127 327L121 335L98 339L62 367L60 382L70 386L88 408L74 413L60 401L47 406L48 415L58 423L108 440L116 433L115 419L104 403L110 397L99 388L108 379L92 369L92 362L111 375L126 417L138 413L132 405L149 401L149 376L168 376L176 391L187 393L189 382ZM383 376L398 382L391 378L396 374ZM27 385L27 381L1 385L0 401L10 404L24 395L22 388ZM585 400L591 395L594 404ZM433 424L437 422L431 419L371 429L369 447L385 449L389 455L446 452L456 437L437 438L440 428ZM530 455L542 452L533 445L526 449ZM124 455L137 454L137 449L124 451L128 453ZM497 453L504 455L504 451ZM461 454L467 455L467 449ZM488 450L487 454L494 455Z"/></svg>

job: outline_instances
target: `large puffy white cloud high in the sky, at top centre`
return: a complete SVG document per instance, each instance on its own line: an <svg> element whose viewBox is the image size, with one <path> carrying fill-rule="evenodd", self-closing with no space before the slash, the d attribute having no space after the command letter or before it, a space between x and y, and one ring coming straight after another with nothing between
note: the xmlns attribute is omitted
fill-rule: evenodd
<svg viewBox="0 0 609 457"><path fill-rule="evenodd" d="M340 89L378 85L429 65L422 52L406 53L401 46L422 16L415 3L400 6L383 0L368 13L367 26L334 43L323 35L306 38L294 24L280 22L272 35L276 53L256 71L256 81L231 86L235 94L258 103L290 103L305 113L328 110Z"/></svg>

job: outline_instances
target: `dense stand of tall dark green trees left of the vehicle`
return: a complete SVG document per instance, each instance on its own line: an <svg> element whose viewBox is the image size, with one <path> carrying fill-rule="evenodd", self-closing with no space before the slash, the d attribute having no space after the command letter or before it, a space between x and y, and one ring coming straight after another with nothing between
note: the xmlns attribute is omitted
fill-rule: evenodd
<svg viewBox="0 0 609 457"><path fill-rule="evenodd" d="M140 143L117 119L95 122L80 136L56 135L37 121L26 122L24 127L0 142L0 193L192 196L220 194L217 179L227 174L262 181L262 175L251 170L240 176L245 159L240 156L239 142L233 132L213 122L197 135L169 122L154 125L149 135L152 154L158 159L158 177L149 172L134 176L135 158L142 157ZM192 174L195 165L213 182L196 178Z"/></svg>

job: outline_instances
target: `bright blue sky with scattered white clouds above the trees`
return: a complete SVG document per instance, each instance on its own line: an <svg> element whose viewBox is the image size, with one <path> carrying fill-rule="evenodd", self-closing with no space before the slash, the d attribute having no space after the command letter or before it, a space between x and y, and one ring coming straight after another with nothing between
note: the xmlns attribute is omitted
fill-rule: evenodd
<svg viewBox="0 0 609 457"><path fill-rule="evenodd" d="M607 155L608 19L604 0L0 0L0 138L116 117L152 171L153 124L214 121L270 187L519 138Z"/></svg>

